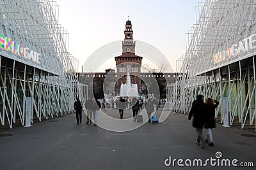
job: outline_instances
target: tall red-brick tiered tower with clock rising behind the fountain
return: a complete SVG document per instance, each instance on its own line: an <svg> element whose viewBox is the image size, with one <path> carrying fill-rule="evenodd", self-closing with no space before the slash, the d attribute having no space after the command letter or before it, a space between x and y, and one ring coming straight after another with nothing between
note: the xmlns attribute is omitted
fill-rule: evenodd
<svg viewBox="0 0 256 170"><path fill-rule="evenodd" d="M132 22L125 23L124 41L122 41L122 55L115 57L117 81L115 91L119 96L122 83L126 83L127 73L131 76L131 83L137 84L138 92L141 93L141 60L142 57L135 55L135 44L133 40Z"/></svg>

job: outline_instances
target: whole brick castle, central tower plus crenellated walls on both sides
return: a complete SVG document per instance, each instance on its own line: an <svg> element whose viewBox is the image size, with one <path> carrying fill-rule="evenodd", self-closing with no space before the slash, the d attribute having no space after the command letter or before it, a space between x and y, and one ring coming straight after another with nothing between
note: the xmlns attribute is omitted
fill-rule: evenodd
<svg viewBox="0 0 256 170"><path fill-rule="evenodd" d="M125 22L122 55L115 57L116 70L106 69L102 73L77 73L79 82L88 85L88 93L93 92L93 96L97 98L103 98L106 94L120 96L120 87L127 83L127 73L129 73L131 83L138 87L138 94L147 95L149 93L143 80L147 79L149 82L156 80L160 97L166 98L166 85L176 81L177 73L141 73L143 57L135 55L135 45L132 23L128 19ZM109 87L106 88L106 85Z"/></svg>

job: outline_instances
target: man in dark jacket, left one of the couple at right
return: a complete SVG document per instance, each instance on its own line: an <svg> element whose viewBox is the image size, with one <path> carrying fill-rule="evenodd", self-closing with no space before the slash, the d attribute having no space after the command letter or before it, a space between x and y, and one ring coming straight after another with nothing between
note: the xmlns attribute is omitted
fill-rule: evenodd
<svg viewBox="0 0 256 170"><path fill-rule="evenodd" d="M196 100L192 103L192 107L188 115L188 120L191 120L191 118L193 117L192 126L196 128L196 132L198 133L196 144L200 145L201 141L201 148L205 148L205 141L202 134L203 126L205 123L205 105L206 104L204 103L204 96L202 96L201 94L197 95Z"/></svg>

